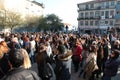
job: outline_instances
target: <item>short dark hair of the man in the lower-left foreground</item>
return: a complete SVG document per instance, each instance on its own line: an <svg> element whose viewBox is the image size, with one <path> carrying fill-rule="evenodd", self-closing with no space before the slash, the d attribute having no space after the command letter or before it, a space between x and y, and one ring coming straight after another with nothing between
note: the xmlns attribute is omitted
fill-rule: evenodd
<svg viewBox="0 0 120 80"><path fill-rule="evenodd" d="M9 61L12 64L12 67L18 68L24 63L24 56L21 53L20 49L10 50Z"/></svg>

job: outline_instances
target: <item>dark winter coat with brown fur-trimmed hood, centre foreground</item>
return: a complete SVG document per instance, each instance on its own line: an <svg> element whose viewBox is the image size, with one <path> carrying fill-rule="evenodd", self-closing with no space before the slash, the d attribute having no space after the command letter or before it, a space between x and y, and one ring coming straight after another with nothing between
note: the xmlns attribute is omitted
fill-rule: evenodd
<svg viewBox="0 0 120 80"><path fill-rule="evenodd" d="M71 77L71 56L72 51L67 50L64 54L59 54L56 60L56 80L70 80Z"/></svg>

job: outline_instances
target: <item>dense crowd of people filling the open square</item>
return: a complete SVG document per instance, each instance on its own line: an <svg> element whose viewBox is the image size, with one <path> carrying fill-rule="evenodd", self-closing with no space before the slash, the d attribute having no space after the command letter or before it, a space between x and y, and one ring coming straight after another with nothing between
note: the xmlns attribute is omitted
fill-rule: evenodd
<svg viewBox="0 0 120 80"><path fill-rule="evenodd" d="M74 72L85 80L111 80L120 65L120 35L74 33L1 33L0 79L71 80ZM38 74L30 67L37 63ZM103 73L103 75L101 75Z"/></svg>

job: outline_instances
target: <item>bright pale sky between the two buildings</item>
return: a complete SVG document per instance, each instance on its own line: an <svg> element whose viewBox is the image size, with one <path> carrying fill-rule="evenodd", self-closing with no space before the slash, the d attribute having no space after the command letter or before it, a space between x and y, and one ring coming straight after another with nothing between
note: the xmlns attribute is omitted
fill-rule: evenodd
<svg viewBox="0 0 120 80"><path fill-rule="evenodd" d="M83 3L91 0L36 0L45 5L44 16L47 14L55 14L63 23L69 23L73 26L78 26L78 3Z"/></svg>

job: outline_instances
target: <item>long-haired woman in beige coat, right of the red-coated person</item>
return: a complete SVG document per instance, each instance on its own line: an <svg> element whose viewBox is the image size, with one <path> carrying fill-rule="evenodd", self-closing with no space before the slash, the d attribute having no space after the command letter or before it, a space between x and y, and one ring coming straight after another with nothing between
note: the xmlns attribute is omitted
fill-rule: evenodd
<svg viewBox="0 0 120 80"><path fill-rule="evenodd" d="M90 46L90 54L86 60L85 73L88 80L94 80L94 75L98 70L97 66L97 46Z"/></svg>

